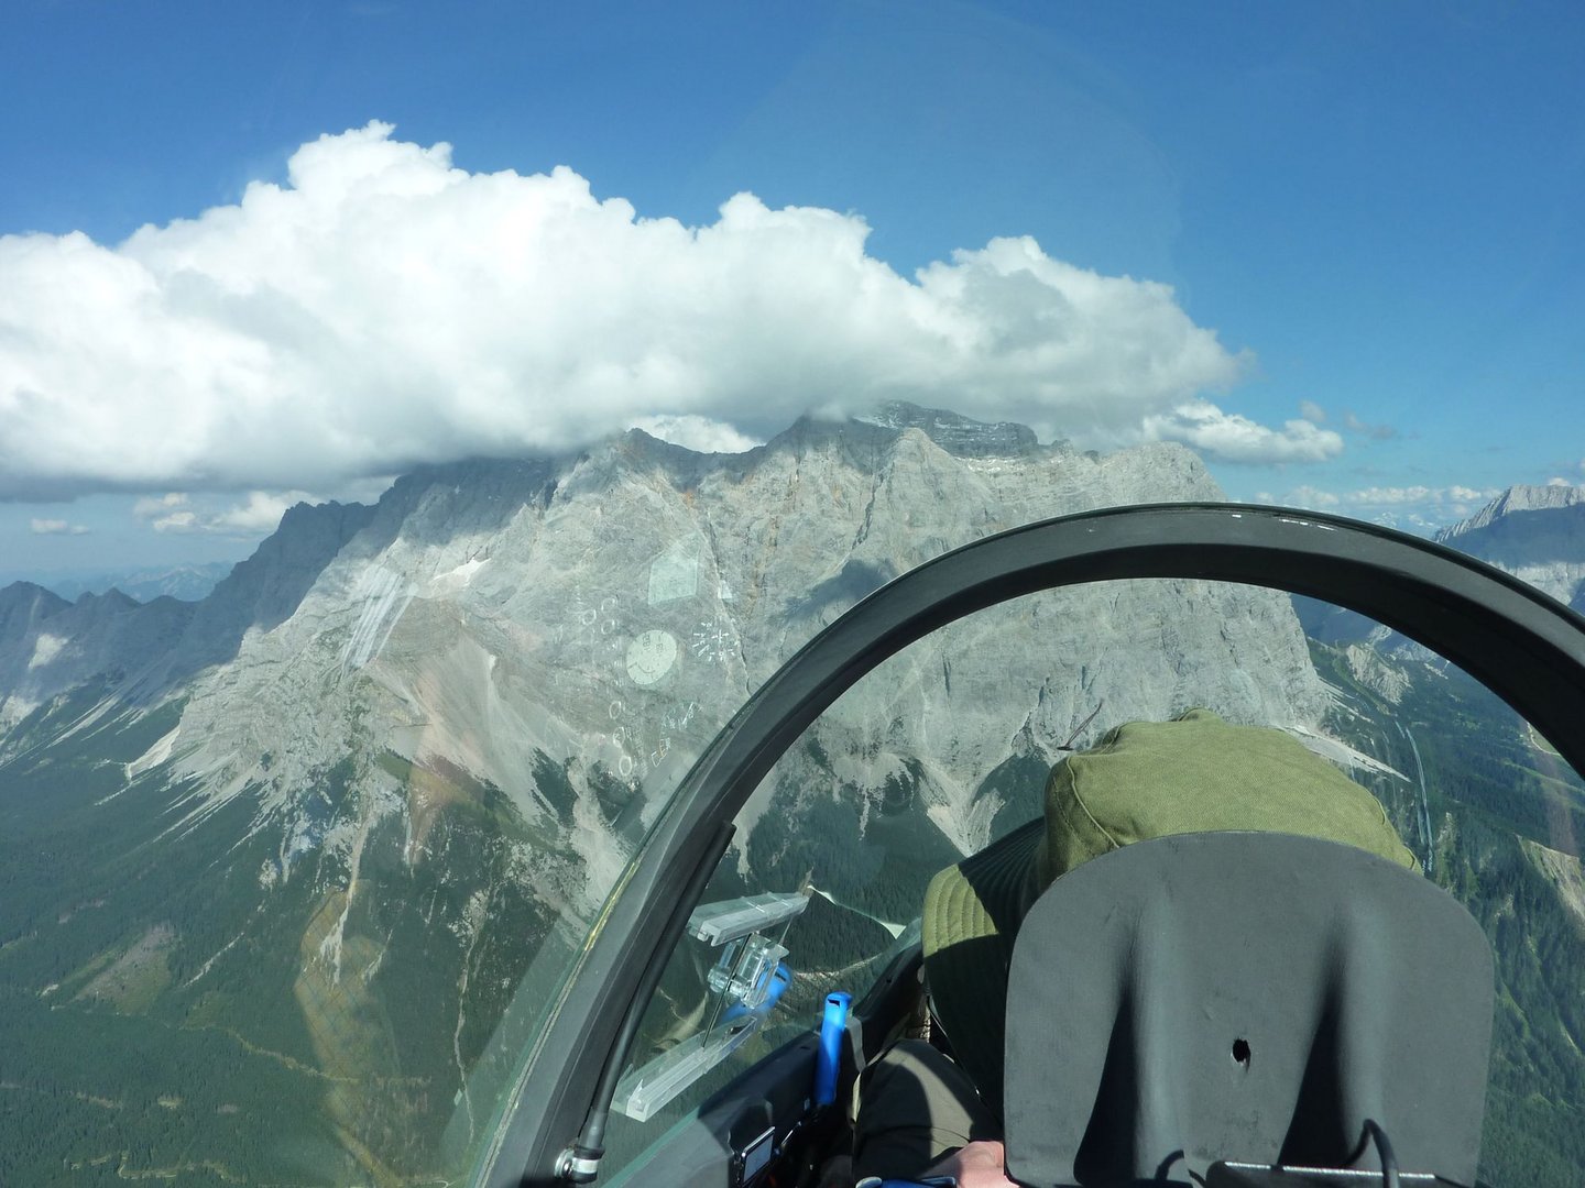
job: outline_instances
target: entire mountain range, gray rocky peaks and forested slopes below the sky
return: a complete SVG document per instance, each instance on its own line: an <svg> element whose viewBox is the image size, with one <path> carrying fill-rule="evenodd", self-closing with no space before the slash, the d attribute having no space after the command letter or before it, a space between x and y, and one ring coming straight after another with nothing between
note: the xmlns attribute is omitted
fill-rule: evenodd
<svg viewBox="0 0 1585 1188"><path fill-rule="evenodd" d="M631 431L423 469L372 507L292 508L197 602L5 588L0 1093L22 1107L0 1123L0 1180L456 1174L514 1028L548 996L536 979L582 942L691 760L815 632L1003 527L1219 497L1182 447L1100 456L892 404L742 455ZM1525 516L1585 510L1542 499L1561 497L1458 531L1533 564ZM1579 542L1574 523L1533 537ZM1568 556L1534 564L1564 583ZM1496 711L1434 700L1392 653L1342 656L1263 589L1105 583L986 611L812 729L740 814L731 881L843 904L824 960L1037 814L1062 746L1201 705L1347 765L1471 901L1511 890L1491 871L1517 854L1566 930L1577 849L1485 786L1468 813L1423 771L1417 790L1392 733L1404 705ZM1362 681L1369 664L1388 675ZM1525 1118L1509 1129L1531 1134Z"/></svg>

